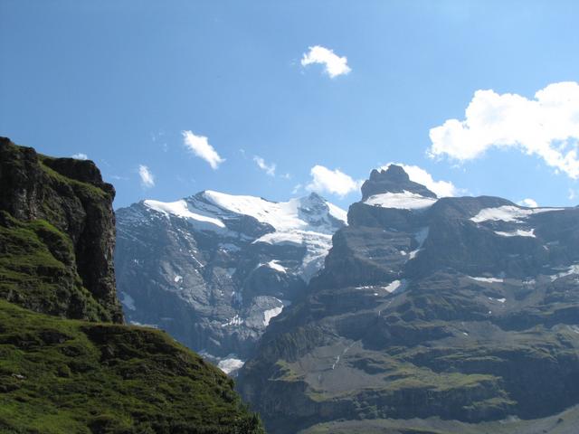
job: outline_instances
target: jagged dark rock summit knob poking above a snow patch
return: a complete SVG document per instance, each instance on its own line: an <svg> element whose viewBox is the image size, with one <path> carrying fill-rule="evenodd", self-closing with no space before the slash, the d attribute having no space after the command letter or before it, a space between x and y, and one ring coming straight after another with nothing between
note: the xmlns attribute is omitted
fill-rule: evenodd
<svg viewBox="0 0 579 434"><path fill-rule="evenodd" d="M386 170L374 169L370 178L362 184L362 201L375 194L404 192L436 198L436 194L424 185L411 181L402 166L389 165Z"/></svg>

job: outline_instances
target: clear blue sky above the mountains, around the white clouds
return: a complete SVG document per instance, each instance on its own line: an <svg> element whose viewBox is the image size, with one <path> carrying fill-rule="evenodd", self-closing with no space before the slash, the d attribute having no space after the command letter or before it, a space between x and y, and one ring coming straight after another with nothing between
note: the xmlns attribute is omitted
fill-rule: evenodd
<svg viewBox="0 0 579 434"><path fill-rule="evenodd" d="M579 203L574 1L0 0L0 15L0 135L87 155L116 207L308 188L346 207L388 162L458 193ZM350 71L303 66L314 46ZM224 161L195 156L184 131ZM337 169L354 183L339 192Z"/></svg>

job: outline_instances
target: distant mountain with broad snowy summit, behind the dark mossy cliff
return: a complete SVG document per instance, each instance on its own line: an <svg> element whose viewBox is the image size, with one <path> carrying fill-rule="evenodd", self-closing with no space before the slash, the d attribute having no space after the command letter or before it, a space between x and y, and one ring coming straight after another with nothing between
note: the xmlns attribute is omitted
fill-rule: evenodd
<svg viewBox="0 0 579 434"><path fill-rule="evenodd" d="M316 193L283 203L213 191L134 203L117 212L125 315L238 369L345 225L346 212Z"/></svg>

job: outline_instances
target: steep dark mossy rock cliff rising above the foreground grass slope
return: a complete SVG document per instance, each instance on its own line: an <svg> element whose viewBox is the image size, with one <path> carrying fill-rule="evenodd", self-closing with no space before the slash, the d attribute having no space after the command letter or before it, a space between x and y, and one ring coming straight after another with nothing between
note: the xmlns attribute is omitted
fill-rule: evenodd
<svg viewBox="0 0 579 434"><path fill-rule="evenodd" d="M27 241L5 238L5 243L22 247L29 241L29 250L21 253L41 254L33 240L40 237L49 254L64 265L52 270L46 269L47 264L12 269L2 288L5 298L52 315L122 322L113 268L115 190L102 181L97 166L91 161L42 156L0 137L0 186L0 210L18 221L9 223L5 214L4 225L42 220L54 229L28 228ZM7 256L4 261L10 268ZM26 273L34 278L44 275L46 285L58 281L61 299L52 303L38 291L33 294L23 277Z"/></svg>

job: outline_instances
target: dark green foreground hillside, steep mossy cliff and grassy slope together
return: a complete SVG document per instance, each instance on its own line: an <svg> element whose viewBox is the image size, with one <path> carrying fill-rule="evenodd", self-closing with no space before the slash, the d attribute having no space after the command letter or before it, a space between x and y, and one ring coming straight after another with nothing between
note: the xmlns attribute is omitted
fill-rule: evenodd
<svg viewBox="0 0 579 434"><path fill-rule="evenodd" d="M90 161L0 138L0 431L263 432L219 369L121 324L113 196Z"/></svg>

